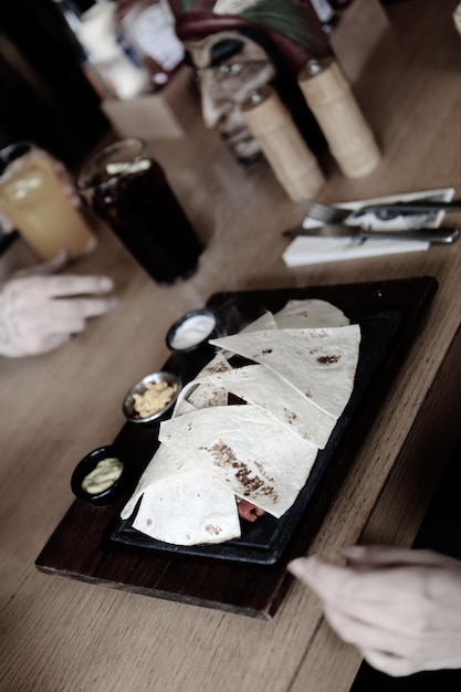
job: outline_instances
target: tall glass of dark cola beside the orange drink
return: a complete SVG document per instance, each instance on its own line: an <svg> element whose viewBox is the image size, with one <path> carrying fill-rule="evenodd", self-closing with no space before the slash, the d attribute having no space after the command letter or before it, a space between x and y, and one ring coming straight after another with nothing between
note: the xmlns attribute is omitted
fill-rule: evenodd
<svg viewBox="0 0 461 692"><path fill-rule="evenodd" d="M104 156L103 151L82 171L78 187L155 281L171 285L197 270L202 245L161 167L151 158L127 162L119 153Z"/></svg>

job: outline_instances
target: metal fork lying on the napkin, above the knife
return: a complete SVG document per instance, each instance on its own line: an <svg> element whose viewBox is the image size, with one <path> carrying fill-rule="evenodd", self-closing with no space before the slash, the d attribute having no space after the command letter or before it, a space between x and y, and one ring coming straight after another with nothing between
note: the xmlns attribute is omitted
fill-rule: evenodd
<svg viewBox="0 0 461 692"><path fill-rule="evenodd" d="M342 223L349 217L358 217L367 211L394 211L400 212L429 213L431 211L461 211L461 201L443 202L433 200L415 200L410 202L375 203L366 205L359 209L342 209L333 205L310 201L303 205L302 212L311 219L323 223Z"/></svg>

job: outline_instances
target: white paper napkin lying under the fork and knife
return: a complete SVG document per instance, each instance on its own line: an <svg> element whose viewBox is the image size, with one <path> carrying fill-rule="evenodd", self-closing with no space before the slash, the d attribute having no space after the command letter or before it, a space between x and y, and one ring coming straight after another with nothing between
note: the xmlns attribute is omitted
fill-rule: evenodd
<svg viewBox="0 0 461 692"><path fill-rule="evenodd" d="M396 202L419 200L450 201L453 198L454 188L441 188L425 190L422 192L406 192L387 197L356 200L353 202L338 202L335 207L344 209L359 209L365 205L375 202ZM395 230L399 228L412 229L420 227L437 228L444 217L444 211L419 212L367 212L360 216L349 217L345 224L360 226L364 229ZM318 221L304 219L303 227L317 228ZM282 258L286 266L304 266L308 264L322 264L325 262L344 262L360 258L374 258L386 254L401 254L404 252L422 252L428 250L430 243L419 240L387 240L369 238L315 238L298 235L283 252Z"/></svg>

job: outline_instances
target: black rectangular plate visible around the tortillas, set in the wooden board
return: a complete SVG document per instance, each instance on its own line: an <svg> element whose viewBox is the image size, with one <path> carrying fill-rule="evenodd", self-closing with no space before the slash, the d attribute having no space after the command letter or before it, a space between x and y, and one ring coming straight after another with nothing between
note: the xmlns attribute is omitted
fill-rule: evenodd
<svg viewBox="0 0 461 692"><path fill-rule="evenodd" d="M367 313L350 315L354 323L360 325L362 342L359 359L352 397L338 419L329 438L328 444L317 454L314 468L304 489L297 496L296 502L279 520L264 514L254 523L241 521L242 535L240 538L216 545L177 546L169 543L155 541L149 536L133 528L132 524L136 516L137 507L126 521L119 521L112 539L126 545L144 548L155 548L177 554L207 556L228 560L239 560L260 565L276 563L290 541L293 531L300 523L315 490L331 463L334 462L335 453L340 445L342 439L347 431L350 420L359 416L360 406L366 401L366 392L374 380L376 373L383 363L394 336L399 327L401 315L397 311ZM229 332L237 331L243 324L232 325ZM202 356L198 356L200 369ZM140 502L140 501L139 501Z"/></svg>

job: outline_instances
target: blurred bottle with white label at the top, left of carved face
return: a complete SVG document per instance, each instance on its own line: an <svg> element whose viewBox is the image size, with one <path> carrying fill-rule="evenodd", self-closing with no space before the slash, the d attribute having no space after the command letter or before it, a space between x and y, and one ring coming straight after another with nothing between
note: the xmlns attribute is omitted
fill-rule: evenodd
<svg viewBox="0 0 461 692"><path fill-rule="evenodd" d="M182 63L185 50L160 0L118 0L116 21L124 44L137 55L156 91Z"/></svg>

